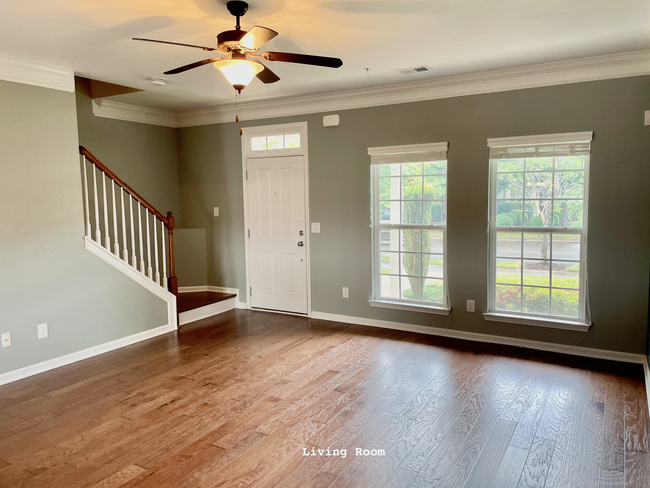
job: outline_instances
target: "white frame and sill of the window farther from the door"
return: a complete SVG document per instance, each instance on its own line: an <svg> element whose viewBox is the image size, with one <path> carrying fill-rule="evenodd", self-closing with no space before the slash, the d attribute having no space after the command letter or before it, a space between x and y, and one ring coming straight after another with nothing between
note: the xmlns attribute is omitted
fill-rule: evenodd
<svg viewBox="0 0 650 488"><path fill-rule="evenodd" d="M508 148L518 146L533 146L543 144L566 144L566 143L591 143L593 132L571 132L562 134L544 134L536 136L521 137L502 137L488 139L490 148ZM591 151L590 151L591 152ZM588 307L588 287L587 287L587 222L589 207L589 166L591 154L585 157L584 167L584 196L583 196L583 217L582 228L565 228L565 227L530 227L521 226L497 227L497 159L490 158L490 187L489 187L489 216L488 216L488 235L489 235L489 270L488 270L488 312L484 313L485 320L494 322L509 322L522 325L534 325L541 327L550 327L567 330L586 331L591 326ZM553 168L553 182L555 182L555 168ZM523 188L525 192L525 188ZM554 201L554 198L551 198ZM522 202L525 199L522 200ZM580 235L580 272L579 272L579 301L578 301L578 318L572 319L562 316L547 314L534 314L529 312L517 312L510 310L497 310L496 308L496 239L497 231L503 232L504 229L513 232L529 233L547 233L553 234L579 234ZM523 235L523 234L522 234ZM551 245L552 245L551 237ZM523 241L522 241L523 246ZM552 251L551 251L552 252ZM523 252L522 252L523 258ZM522 280L522 287L523 280ZM552 287L552 269L549 276L549 289ZM552 297L551 297L552 299ZM523 303L523 297L522 297Z"/></svg>

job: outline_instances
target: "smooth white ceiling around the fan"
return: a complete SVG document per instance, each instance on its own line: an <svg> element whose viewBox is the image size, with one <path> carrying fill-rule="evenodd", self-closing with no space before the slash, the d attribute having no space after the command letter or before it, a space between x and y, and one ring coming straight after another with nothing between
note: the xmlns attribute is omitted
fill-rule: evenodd
<svg viewBox="0 0 650 488"><path fill-rule="evenodd" d="M175 112L234 101L198 49L234 27L226 0L0 0L0 54L71 68L146 90L112 98ZM254 80L242 101L362 88L650 48L648 0L251 0L243 29L280 33L264 50L339 57L343 67L269 62L281 80ZM402 75L419 65L432 72ZM368 71L365 68L369 68Z"/></svg>

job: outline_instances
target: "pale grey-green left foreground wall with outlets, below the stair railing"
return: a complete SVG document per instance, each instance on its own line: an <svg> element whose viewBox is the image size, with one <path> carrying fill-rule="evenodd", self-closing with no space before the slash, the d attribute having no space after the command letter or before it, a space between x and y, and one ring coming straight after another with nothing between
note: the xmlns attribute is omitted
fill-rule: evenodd
<svg viewBox="0 0 650 488"><path fill-rule="evenodd" d="M0 81L0 107L0 374L167 325L166 302L84 249L75 95Z"/></svg>

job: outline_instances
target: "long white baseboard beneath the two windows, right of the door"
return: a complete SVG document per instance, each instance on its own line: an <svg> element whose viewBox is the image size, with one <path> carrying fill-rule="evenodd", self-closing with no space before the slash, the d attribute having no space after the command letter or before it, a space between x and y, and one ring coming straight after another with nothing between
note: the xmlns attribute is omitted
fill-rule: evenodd
<svg viewBox="0 0 650 488"><path fill-rule="evenodd" d="M403 330L406 332L418 332L435 336L445 336L454 339L463 339L475 342L487 342L490 344L502 344L504 346L524 347L527 349L536 349L538 351L558 352L562 354L571 354L574 356L583 356L596 359L609 359L611 361L622 361L625 363L644 364L647 361L645 354L633 354L620 351L606 351L604 349L591 349L579 346L567 346L564 344L553 344L550 342L530 341L527 339L516 339L505 336L495 336L489 334L479 334L476 332L464 332L454 329L440 329L437 327L427 327L424 325L404 324L401 322L390 322L387 320L366 319L363 317L353 317L350 315L338 315L326 312L312 312L311 318L330 320L332 322L344 322L348 324L366 325L369 327L380 327L382 329ZM647 370L647 367L646 367ZM647 389L646 389L647 391Z"/></svg>

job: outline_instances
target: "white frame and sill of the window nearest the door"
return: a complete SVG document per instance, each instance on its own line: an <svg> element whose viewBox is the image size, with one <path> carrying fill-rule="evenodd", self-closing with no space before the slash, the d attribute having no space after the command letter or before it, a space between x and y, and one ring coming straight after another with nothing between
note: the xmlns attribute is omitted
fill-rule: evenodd
<svg viewBox="0 0 650 488"><path fill-rule="evenodd" d="M447 153L448 143L439 142L439 143L430 143L430 144L411 144L404 146L383 146L383 147L371 147L368 148L368 155L373 157L378 156L388 156L391 158L391 162L397 163L400 162L402 155L404 156L403 162L409 162L409 157L422 153L423 156L435 152L445 152ZM448 156L445 156L445 161L447 162L447 170L445 172L445 177L447 178L448 184L448 175L449 175L449 161ZM417 162L427 162L428 159L424 157L423 159ZM379 200L379 164L371 165L371 191L370 191L370 203L371 203L371 229L372 229L372 299L368 300L368 303L372 307L381 307L381 308L392 308L397 310L408 310L408 311L417 311L425 313L433 313L438 315L449 315L450 306L449 306L449 293L448 293L448 274L447 274L447 217L445 217L445 222L442 225L408 225L408 224L382 224L380 223L380 200ZM447 196L449 193L449 188L447 187ZM448 201L447 196L445 201ZM428 305L421 301L415 300L406 300L406 299L388 299L381 297L381 230L404 230L404 229L426 229L426 230L441 230L443 235L443 304L431 304ZM400 263L401 266L401 263ZM401 278L401 276L400 276ZM424 286L424 277L422 278L422 284Z"/></svg>

